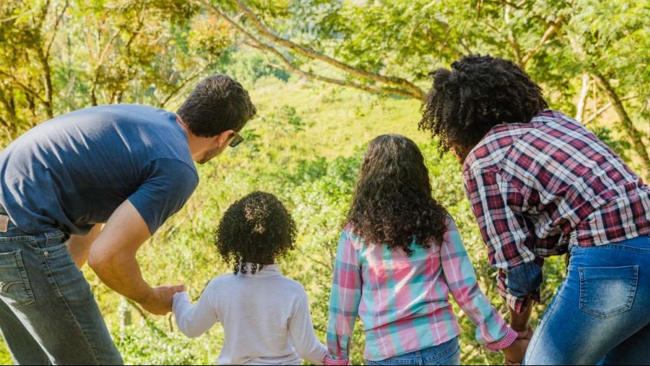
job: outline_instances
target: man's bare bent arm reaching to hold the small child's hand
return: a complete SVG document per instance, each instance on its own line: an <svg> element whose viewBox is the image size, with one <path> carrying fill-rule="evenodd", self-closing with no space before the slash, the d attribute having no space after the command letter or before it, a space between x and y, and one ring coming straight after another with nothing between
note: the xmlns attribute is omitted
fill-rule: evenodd
<svg viewBox="0 0 650 366"><path fill-rule="evenodd" d="M90 246L88 265L111 289L138 302L149 313L165 315L172 310L174 293L185 287L151 288L142 278L136 253L149 237L149 226L127 200L110 216Z"/></svg>

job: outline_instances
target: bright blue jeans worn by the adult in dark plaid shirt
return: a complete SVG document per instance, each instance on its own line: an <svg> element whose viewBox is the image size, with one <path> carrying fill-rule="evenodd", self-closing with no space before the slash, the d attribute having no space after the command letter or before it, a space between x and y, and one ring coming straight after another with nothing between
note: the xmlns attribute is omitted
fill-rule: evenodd
<svg viewBox="0 0 650 366"><path fill-rule="evenodd" d="M571 248L527 365L650 364L650 237Z"/></svg>

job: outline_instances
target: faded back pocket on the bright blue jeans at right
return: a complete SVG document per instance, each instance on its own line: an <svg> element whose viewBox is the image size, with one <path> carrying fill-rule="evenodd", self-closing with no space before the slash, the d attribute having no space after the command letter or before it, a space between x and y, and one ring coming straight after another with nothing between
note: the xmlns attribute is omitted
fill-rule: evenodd
<svg viewBox="0 0 650 366"><path fill-rule="evenodd" d="M638 265L584 267L580 273L580 310L605 319L632 308Z"/></svg>

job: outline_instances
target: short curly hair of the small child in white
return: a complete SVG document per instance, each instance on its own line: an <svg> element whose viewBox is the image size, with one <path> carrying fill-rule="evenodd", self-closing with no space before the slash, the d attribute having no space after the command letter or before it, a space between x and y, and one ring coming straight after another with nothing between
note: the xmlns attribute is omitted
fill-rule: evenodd
<svg viewBox="0 0 650 366"><path fill-rule="evenodd" d="M284 257L295 241L296 223L282 202L266 192L234 202L214 232L214 245L223 260L232 263L234 274L255 274Z"/></svg>

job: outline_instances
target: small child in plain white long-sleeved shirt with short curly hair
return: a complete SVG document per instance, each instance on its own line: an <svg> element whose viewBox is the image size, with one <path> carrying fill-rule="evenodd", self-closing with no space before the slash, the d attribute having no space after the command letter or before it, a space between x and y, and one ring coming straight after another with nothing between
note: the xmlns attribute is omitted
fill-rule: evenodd
<svg viewBox="0 0 650 366"><path fill-rule="evenodd" d="M214 244L234 272L214 278L197 306L174 297L178 328L198 337L221 322L218 365L323 364L327 352L312 328L302 285L282 276L275 261L293 248L296 224L272 194L254 192L223 215Z"/></svg>

